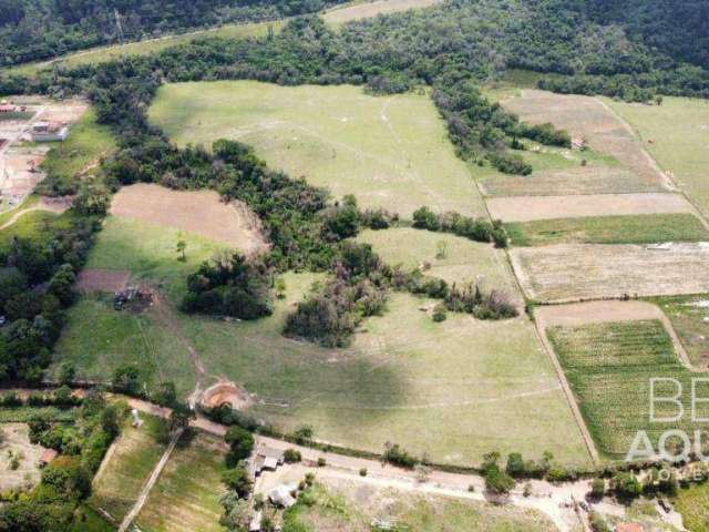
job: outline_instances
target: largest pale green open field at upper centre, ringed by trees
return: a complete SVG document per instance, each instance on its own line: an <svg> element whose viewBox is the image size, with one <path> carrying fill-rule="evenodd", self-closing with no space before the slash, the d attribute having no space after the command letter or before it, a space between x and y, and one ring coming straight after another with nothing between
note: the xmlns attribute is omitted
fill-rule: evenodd
<svg viewBox="0 0 709 532"><path fill-rule="evenodd" d="M402 216L422 205L485 214L427 95L370 96L350 85L251 81L163 85L150 119L181 145L233 139L271 167Z"/></svg>

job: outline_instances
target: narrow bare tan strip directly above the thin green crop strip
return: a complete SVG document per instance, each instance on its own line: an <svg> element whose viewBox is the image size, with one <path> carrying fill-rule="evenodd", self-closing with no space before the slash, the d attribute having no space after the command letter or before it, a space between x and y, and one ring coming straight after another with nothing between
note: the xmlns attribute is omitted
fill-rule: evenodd
<svg viewBox="0 0 709 532"><path fill-rule="evenodd" d="M685 196L665 193L492 197L487 208L503 222L695 212Z"/></svg>

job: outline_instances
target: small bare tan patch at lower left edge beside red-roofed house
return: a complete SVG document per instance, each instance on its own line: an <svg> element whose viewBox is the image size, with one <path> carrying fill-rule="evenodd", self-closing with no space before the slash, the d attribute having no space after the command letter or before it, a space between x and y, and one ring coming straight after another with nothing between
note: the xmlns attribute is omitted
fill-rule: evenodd
<svg viewBox="0 0 709 532"><path fill-rule="evenodd" d="M40 457L44 448L30 442L25 423L0 424L0 492L31 488L40 481ZM17 459L17 468L11 466Z"/></svg>

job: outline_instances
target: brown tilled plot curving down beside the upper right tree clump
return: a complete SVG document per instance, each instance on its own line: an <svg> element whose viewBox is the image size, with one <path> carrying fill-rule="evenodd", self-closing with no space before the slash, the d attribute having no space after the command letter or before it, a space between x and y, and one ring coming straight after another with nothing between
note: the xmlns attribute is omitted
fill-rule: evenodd
<svg viewBox="0 0 709 532"><path fill-rule="evenodd" d="M613 156L636 177L635 181L629 175L623 178L627 180L627 190L623 192L667 190L667 176L645 152L633 130L600 100L524 89L518 91L518 96L503 99L501 104L525 122L551 122L568 131L575 141L586 140L595 152ZM616 171L617 167L612 165L610 173L605 175L603 168L597 168L597 181L610 184L616 182Z"/></svg>

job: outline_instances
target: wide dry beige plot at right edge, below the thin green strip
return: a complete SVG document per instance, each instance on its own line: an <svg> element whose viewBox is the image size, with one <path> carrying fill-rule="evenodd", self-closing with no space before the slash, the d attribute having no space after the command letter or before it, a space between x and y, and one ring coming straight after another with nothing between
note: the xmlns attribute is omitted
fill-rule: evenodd
<svg viewBox="0 0 709 532"><path fill-rule="evenodd" d="M702 294L709 290L709 245L559 244L511 252L532 299L580 299Z"/></svg>

